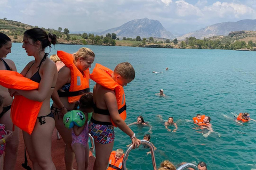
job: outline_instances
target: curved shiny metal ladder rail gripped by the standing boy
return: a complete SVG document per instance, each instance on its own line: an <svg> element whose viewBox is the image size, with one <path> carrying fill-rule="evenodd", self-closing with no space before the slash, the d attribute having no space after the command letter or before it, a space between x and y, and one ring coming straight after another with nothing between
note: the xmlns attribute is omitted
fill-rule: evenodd
<svg viewBox="0 0 256 170"><path fill-rule="evenodd" d="M153 164L154 170L157 170L157 169L156 169L156 159L155 159L155 153L154 153L154 147L153 147L153 145L152 145L149 141L147 141L147 140L140 140L140 144L146 144L146 145L149 146L150 152L151 152L152 164ZM131 145L131 146L126 150L126 152L125 152L125 154L124 154L124 158L123 158L123 169L125 169L125 170L126 170L126 160L127 160L127 158L128 158L128 155L129 155L130 151L132 150L132 147L133 147L133 145ZM197 170L198 170L198 169L197 169Z"/></svg>

